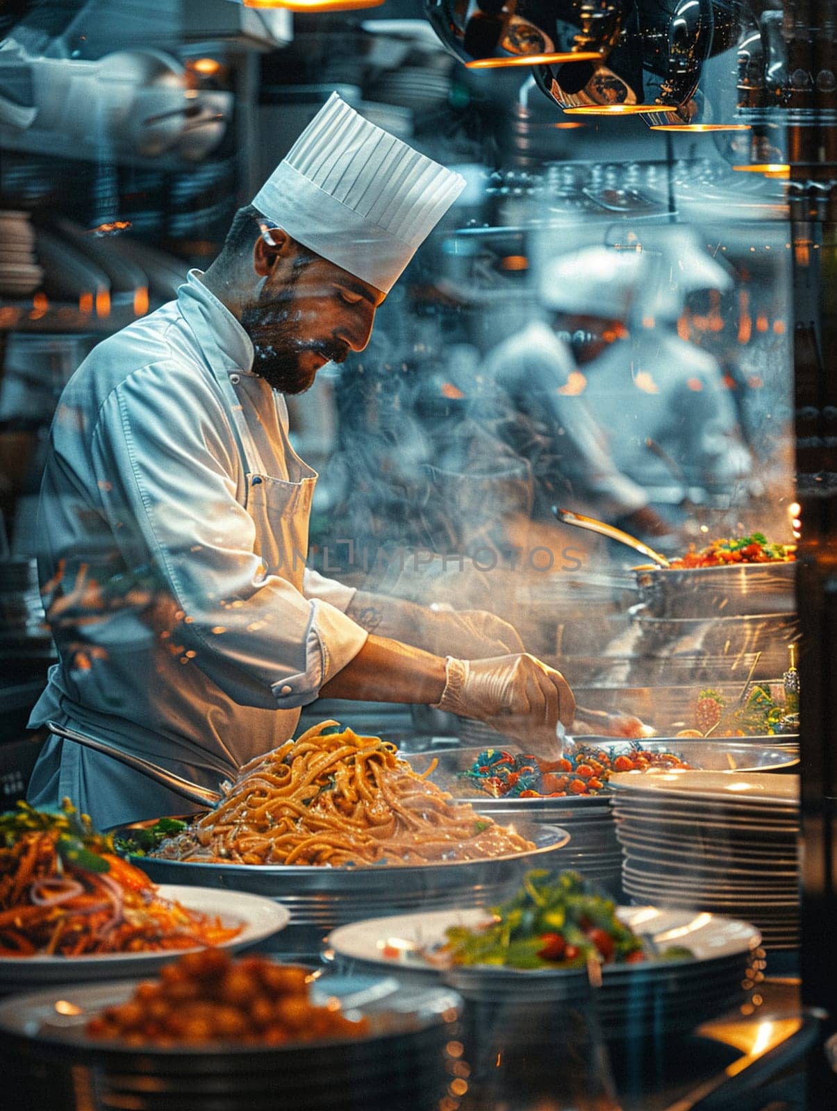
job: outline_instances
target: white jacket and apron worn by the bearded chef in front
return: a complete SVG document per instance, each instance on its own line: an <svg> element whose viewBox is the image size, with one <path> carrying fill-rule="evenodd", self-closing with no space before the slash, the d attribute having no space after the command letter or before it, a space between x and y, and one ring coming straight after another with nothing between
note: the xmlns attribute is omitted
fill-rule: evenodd
<svg viewBox="0 0 837 1111"><path fill-rule="evenodd" d="M367 638L343 612L353 591L305 568L317 474L252 361L191 271L71 378L39 509L60 660L30 727L76 727L212 788L291 737ZM50 738L29 800L63 797L100 827L196 809Z"/></svg>

